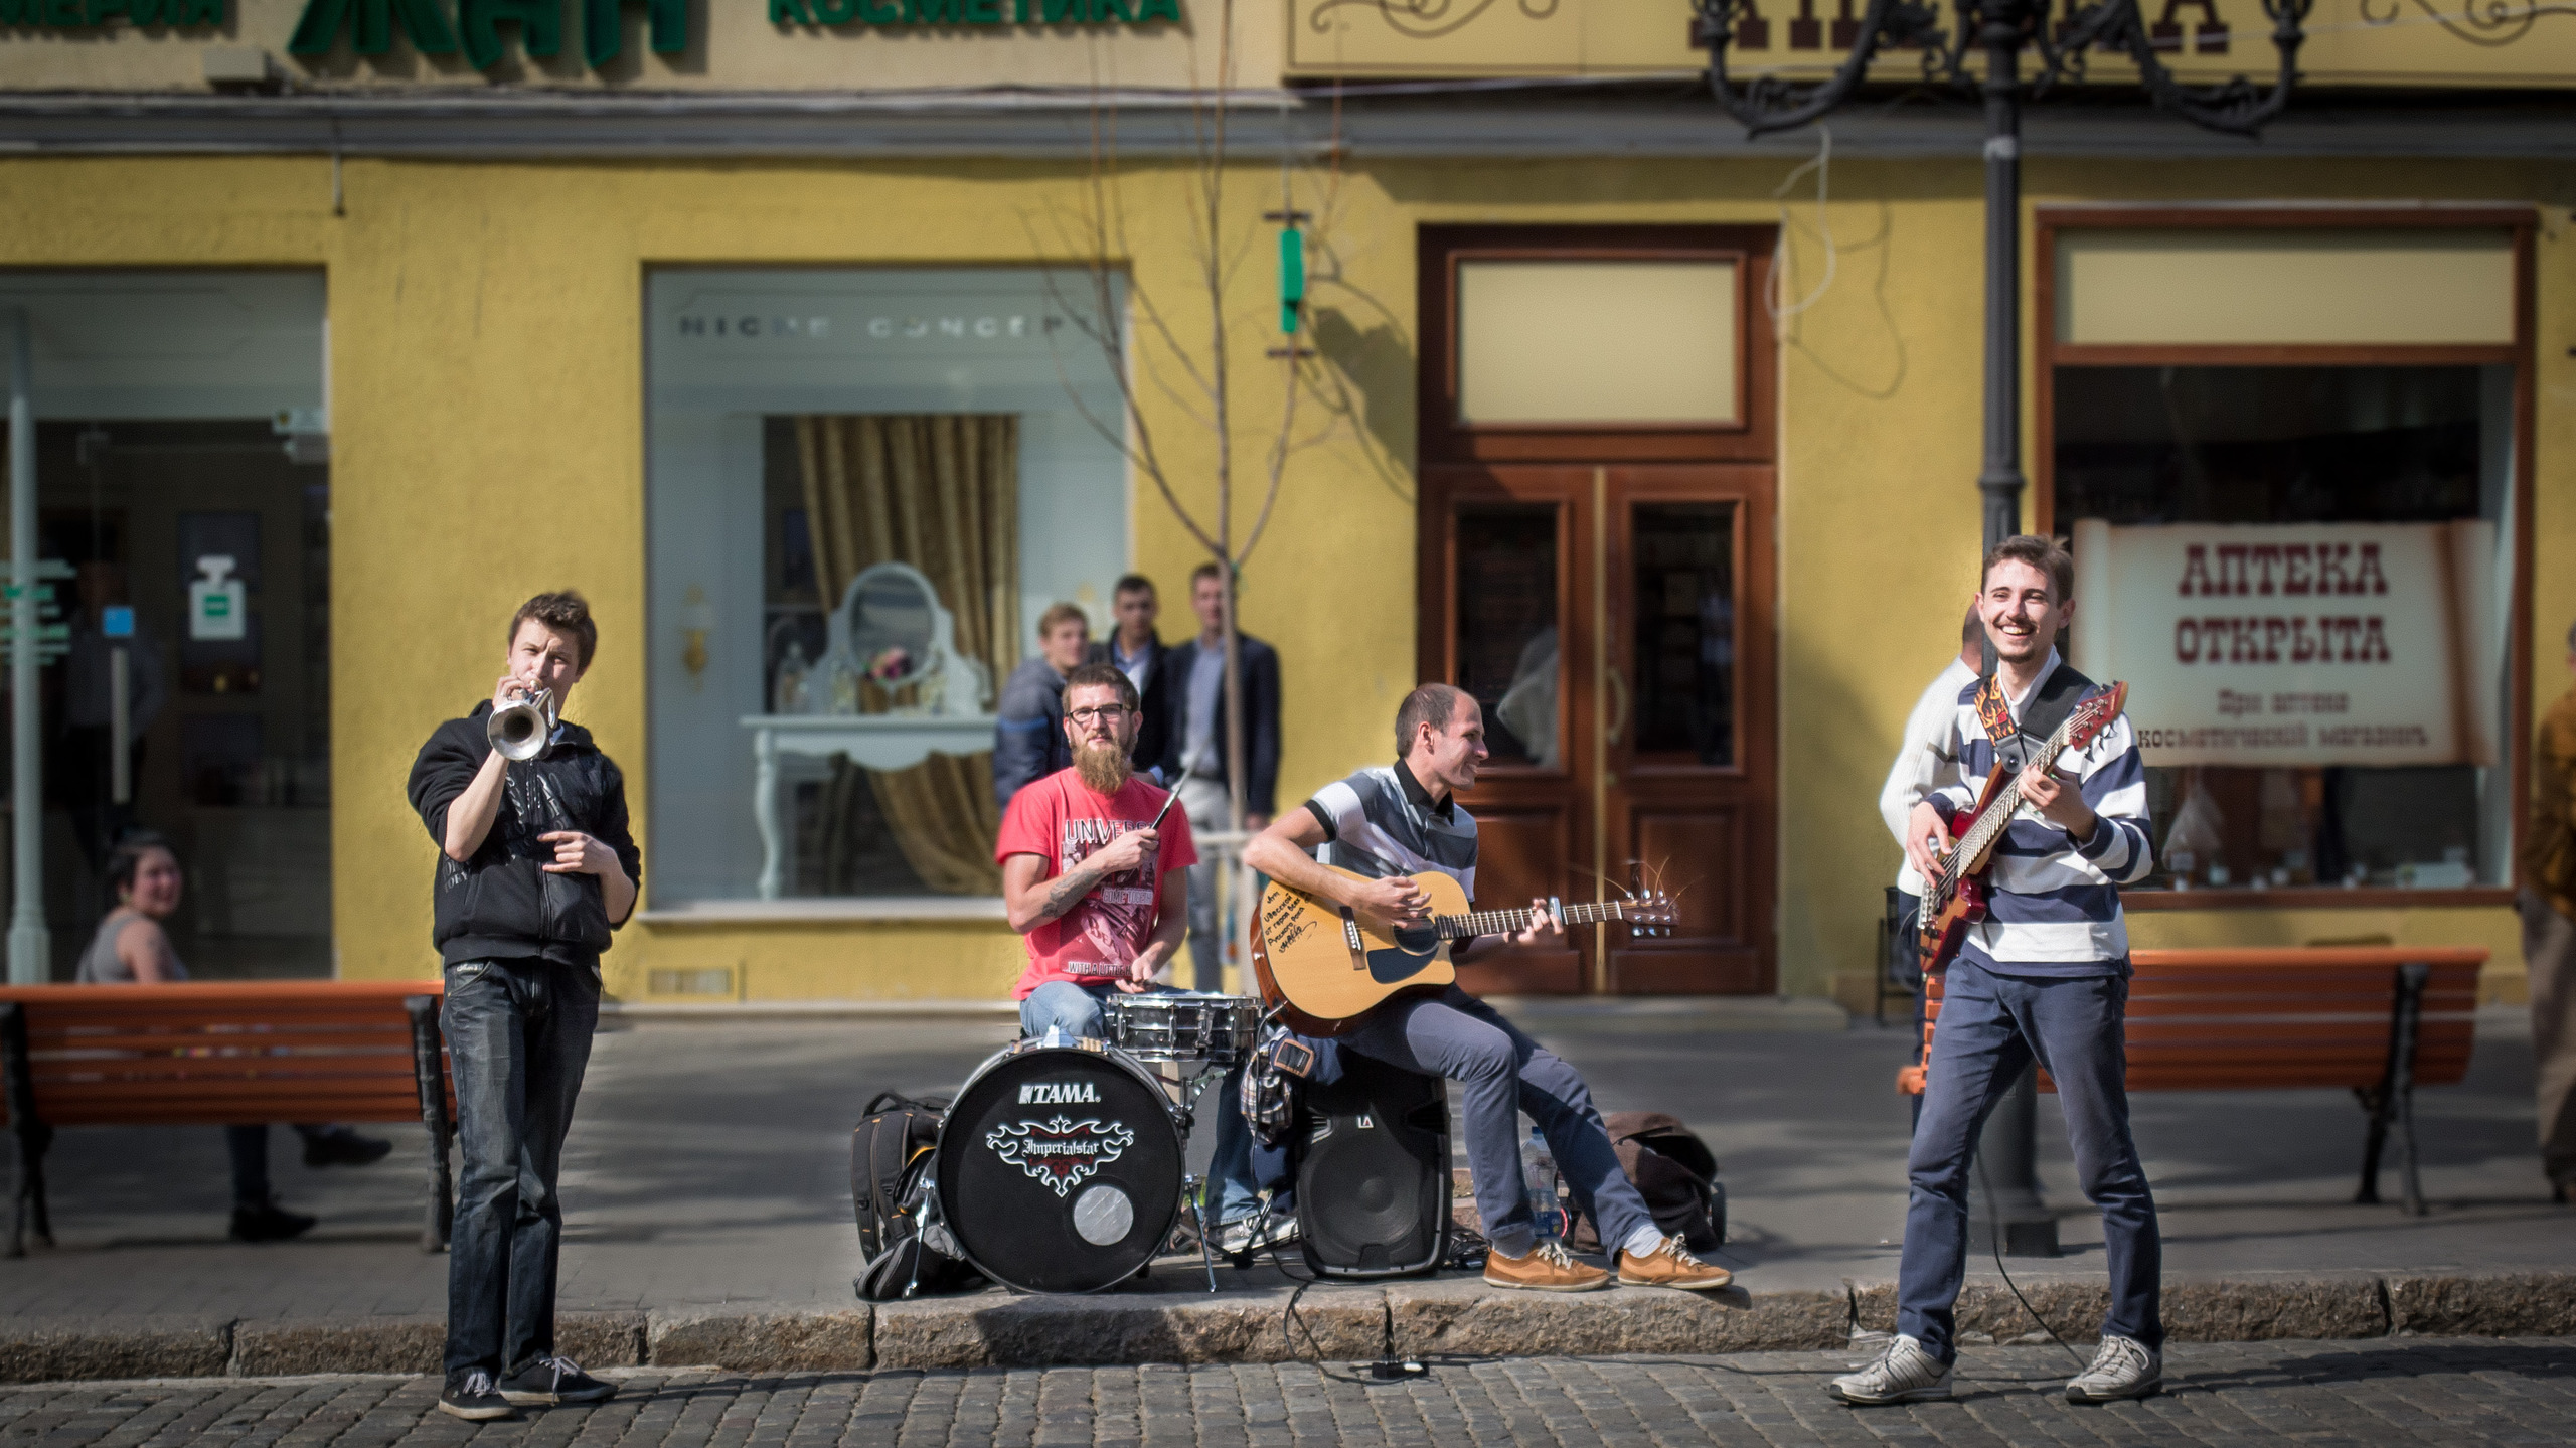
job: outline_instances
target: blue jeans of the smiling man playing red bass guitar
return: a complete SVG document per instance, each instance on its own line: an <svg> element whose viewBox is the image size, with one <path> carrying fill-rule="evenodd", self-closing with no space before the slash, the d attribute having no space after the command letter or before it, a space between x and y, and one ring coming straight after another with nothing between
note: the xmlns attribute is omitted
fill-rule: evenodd
<svg viewBox="0 0 2576 1448"><path fill-rule="evenodd" d="M2164 1242L2128 1136L2128 976L2004 976L1953 961L1932 1031L1932 1067L1906 1177L1906 1252L1896 1270L1896 1332L1942 1363L1958 1358L1958 1286L1968 1270L1968 1172L1986 1113L2038 1054L2058 1082L2066 1139L2084 1196L2102 1208L2110 1314L2102 1332L2164 1345Z"/></svg>

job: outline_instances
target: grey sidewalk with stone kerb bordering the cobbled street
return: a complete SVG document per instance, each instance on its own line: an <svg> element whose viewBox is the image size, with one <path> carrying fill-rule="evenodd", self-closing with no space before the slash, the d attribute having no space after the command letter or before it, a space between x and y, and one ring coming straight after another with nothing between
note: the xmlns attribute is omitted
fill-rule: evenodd
<svg viewBox="0 0 2576 1448"><path fill-rule="evenodd" d="M1043 1360L1285 1360L1399 1350L1718 1353L1824 1348L1893 1311L1906 1110L1901 1033L1816 1031L1659 1005L1525 1013L1605 1110L1662 1108L1718 1152L1734 1208L1716 1301L1618 1291L1492 1293L1476 1281L1324 1286L1190 1262L1146 1291L984 1293L871 1311L850 1293L848 1126L884 1087L953 1087L997 1043L989 1020L644 1020L603 1033L567 1147L562 1306L585 1363L747 1371ZM2419 1098L2434 1211L2352 1206L2362 1118L2339 1092L2136 1098L2164 1208L2177 1337L2576 1332L2576 1214L2532 1152L2530 1043L2514 1010L2481 1018L2470 1082ZM1198 1149L1206 1149L1200 1134ZM0 1378L428 1371L446 1257L417 1247L422 1147L361 1172L294 1165L304 1242L222 1239L214 1131L64 1131L52 1157L59 1247L0 1262ZM2030 1306L1971 1275L1963 1327L1996 1342L2076 1340L2099 1319L2099 1229L2074 1190L2053 1100L2043 1188L2069 1255L2014 1260Z"/></svg>

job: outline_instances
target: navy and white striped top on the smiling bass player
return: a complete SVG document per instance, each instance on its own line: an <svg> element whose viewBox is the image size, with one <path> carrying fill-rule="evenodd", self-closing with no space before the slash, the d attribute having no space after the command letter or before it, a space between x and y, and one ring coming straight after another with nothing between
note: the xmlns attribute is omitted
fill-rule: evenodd
<svg viewBox="0 0 2576 1448"><path fill-rule="evenodd" d="M2040 680L2058 670L2056 649ZM2012 719L2038 693L2007 701ZM1958 691L1942 737L1935 739L1932 776L1940 781L1927 799L1942 819L1976 804L1994 773L1994 742L1976 716L1978 680ZM2102 693L2092 685L2084 698ZM1994 848L1994 873L1986 920L1968 928L1960 958L2007 976L2117 976L2128 974L2128 920L2120 915L2120 886L2146 879L2156 848L2146 812L2146 765L2138 760L2138 732L2128 714L2094 734L2092 745L2058 755L2058 776L2081 781L2084 804L2102 827L2084 845L2058 830L2030 804L2014 809L2012 827Z"/></svg>

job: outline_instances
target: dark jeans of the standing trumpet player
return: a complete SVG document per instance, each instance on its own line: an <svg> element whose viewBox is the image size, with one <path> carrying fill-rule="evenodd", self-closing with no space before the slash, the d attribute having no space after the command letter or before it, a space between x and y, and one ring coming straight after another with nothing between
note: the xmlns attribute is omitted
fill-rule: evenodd
<svg viewBox="0 0 2576 1448"><path fill-rule="evenodd" d="M438 1028L456 1077L456 1224L446 1371L495 1378L554 1355L554 1262L572 1100L600 1023L600 969L554 961L448 966Z"/></svg>

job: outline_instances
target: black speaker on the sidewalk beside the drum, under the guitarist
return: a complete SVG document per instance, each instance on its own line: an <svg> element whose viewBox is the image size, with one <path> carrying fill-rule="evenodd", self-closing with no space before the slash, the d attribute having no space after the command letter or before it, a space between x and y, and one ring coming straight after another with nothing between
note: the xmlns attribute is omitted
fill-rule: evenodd
<svg viewBox="0 0 2576 1448"><path fill-rule="evenodd" d="M1296 1211L1319 1278L1404 1278L1448 1257L1448 1085L1342 1051L1298 1092Z"/></svg>

